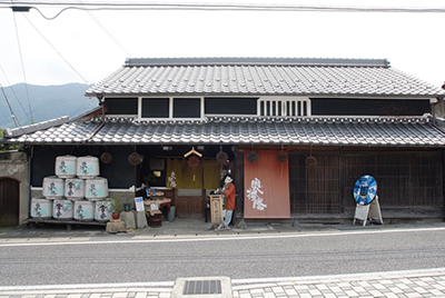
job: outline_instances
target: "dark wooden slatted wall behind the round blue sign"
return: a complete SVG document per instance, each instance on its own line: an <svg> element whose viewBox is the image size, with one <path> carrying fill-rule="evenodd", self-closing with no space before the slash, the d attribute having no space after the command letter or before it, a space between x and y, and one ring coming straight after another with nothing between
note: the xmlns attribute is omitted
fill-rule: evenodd
<svg viewBox="0 0 445 298"><path fill-rule="evenodd" d="M308 157L316 160L310 162ZM354 185L363 175L377 181L377 196L389 217L443 216L443 152L289 151L290 212L350 217Z"/></svg>

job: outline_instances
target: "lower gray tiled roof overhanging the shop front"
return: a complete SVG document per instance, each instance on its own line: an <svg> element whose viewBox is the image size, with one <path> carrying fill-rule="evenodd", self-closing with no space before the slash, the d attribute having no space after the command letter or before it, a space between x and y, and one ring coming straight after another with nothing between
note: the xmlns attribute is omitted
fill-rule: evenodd
<svg viewBox="0 0 445 298"><path fill-rule="evenodd" d="M8 139L24 143L180 145L268 143L444 147L445 133L429 118L209 118L148 121L109 118L71 122ZM92 136L92 137L91 137Z"/></svg>

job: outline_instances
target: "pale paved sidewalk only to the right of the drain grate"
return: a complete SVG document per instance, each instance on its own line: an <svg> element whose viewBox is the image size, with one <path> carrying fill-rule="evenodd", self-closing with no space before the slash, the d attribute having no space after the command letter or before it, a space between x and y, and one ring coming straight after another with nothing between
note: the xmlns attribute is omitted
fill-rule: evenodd
<svg viewBox="0 0 445 298"><path fill-rule="evenodd" d="M237 284L233 282L233 295L239 298L445 297L445 268Z"/></svg>

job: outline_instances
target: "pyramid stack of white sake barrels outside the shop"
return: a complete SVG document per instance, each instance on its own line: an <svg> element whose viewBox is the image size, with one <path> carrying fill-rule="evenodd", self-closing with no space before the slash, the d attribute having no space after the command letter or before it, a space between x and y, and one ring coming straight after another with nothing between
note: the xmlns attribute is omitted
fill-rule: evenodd
<svg viewBox="0 0 445 298"><path fill-rule="evenodd" d="M57 157L55 172L56 176L43 178L43 198L31 200L31 217L102 222L111 219L108 180L99 177L98 158Z"/></svg>

